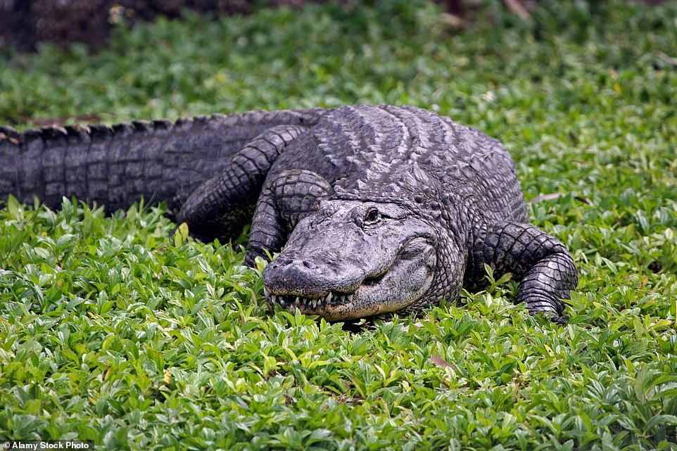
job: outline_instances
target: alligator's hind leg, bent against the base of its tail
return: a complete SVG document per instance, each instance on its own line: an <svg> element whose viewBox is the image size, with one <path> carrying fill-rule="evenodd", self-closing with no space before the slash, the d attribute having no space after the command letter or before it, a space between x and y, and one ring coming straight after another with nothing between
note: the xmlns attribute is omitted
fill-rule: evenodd
<svg viewBox="0 0 677 451"><path fill-rule="evenodd" d="M190 194L177 214L177 224L186 222L191 235L205 241L236 238L251 219L270 167L305 130L300 125L277 125L249 141L220 174Z"/></svg>

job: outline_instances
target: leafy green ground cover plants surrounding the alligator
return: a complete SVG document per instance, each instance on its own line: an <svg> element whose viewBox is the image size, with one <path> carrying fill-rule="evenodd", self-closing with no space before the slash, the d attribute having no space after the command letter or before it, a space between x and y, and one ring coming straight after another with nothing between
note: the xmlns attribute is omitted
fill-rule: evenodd
<svg viewBox="0 0 677 451"><path fill-rule="evenodd" d="M0 210L0 438L106 450L677 450L677 4L386 0L0 51L0 122L411 103L501 139L571 249L569 323L514 281L346 328L269 313L242 240L162 206ZM563 4L567 3L566 6ZM569 4L570 3L570 4ZM555 194L555 196L552 196ZM545 199L542 198L543 195Z"/></svg>

